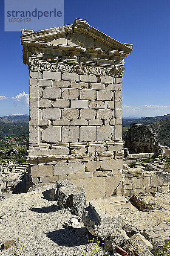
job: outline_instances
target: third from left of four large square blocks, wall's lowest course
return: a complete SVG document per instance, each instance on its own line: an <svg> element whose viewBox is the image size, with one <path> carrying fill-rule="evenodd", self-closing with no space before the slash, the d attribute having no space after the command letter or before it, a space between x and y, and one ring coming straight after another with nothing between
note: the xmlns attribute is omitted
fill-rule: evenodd
<svg viewBox="0 0 170 256"><path fill-rule="evenodd" d="M79 141L95 141L96 127L95 126L81 126Z"/></svg>

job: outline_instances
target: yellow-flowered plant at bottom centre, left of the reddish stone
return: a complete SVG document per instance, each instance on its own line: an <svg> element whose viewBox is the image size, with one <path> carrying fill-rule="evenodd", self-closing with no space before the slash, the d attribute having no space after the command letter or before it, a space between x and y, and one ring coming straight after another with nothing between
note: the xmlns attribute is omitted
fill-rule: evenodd
<svg viewBox="0 0 170 256"><path fill-rule="evenodd" d="M88 236L87 236L88 239ZM105 248L104 243L96 237L96 242L94 238L89 240L88 239L88 253L86 251L82 251L82 256L105 256Z"/></svg>

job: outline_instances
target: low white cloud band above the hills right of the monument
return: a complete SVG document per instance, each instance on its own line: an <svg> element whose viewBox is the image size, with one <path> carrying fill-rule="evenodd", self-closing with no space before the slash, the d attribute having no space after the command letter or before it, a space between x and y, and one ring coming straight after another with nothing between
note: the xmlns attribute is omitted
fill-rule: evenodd
<svg viewBox="0 0 170 256"><path fill-rule="evenodd" d="M170 106L143 105L143 106L123 106L123 116L159 116L170 114Z"/></svg>

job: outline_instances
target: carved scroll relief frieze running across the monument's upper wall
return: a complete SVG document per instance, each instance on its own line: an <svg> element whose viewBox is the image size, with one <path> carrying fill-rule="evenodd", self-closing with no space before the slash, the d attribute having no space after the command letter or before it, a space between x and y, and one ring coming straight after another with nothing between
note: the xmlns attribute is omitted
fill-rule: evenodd
<svg viewBox="0 0 170 256"><path fill-rule="evenodd" d="M119 76L125 70L125 67L98 67L98 66L85 66L85 65L71 65L63 62L50 63L48 61L41 61L39 59L29 59L30 71L54 71L54 72L68 72L77 73L79 75L96 75L96 76Z"/></svg>

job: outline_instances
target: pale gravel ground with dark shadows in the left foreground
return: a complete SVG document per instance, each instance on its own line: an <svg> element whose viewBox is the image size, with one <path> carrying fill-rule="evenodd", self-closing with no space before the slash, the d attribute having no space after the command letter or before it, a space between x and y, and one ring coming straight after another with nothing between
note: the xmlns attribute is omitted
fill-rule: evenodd
<svg viewBox="0 0 170 256"><path fill-rule="evenodd" d="M15 194L0 201L0 246L17 237L26 256L82 256L90 236L83 224L76 229L65 227L71 217L60 211L57 201L49 200L48 191ZM12 256L11 248L0 250L1 256Z"/></svg>

